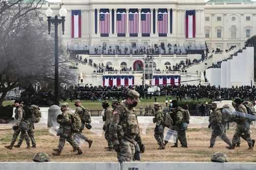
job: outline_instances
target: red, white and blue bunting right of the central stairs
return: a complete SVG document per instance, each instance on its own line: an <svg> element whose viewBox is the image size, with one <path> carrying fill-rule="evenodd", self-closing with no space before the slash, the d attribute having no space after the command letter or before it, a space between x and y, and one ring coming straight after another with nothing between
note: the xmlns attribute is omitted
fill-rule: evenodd
<svg viewBox="0 0 256 170"><path fill-rule="evenodd" d="M180 85L180 76L153 76L152 85Z"/></svg>

